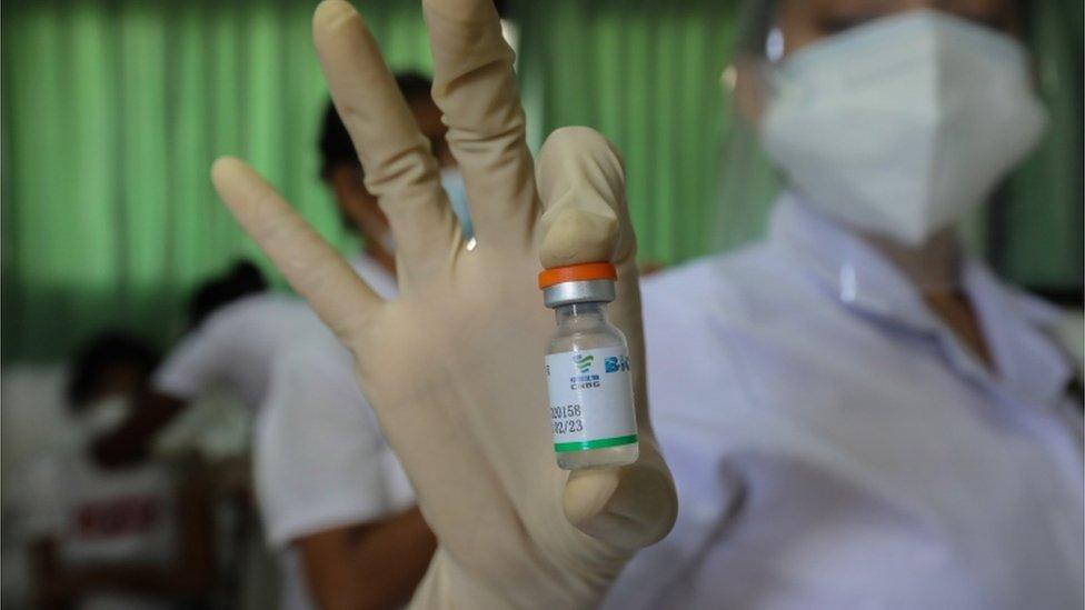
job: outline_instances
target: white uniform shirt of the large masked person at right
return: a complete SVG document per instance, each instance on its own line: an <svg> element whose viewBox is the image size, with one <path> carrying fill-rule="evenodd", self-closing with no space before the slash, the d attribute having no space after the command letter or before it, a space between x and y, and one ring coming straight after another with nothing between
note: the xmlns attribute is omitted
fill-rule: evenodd
<svg viewBox="0 0 1085 610"><path fill-rule="evenodd" d="M1082 421L1054 311L964 270L991 372L788 197L767 242L645 281L680 500L608 608L1081 608Z"/></svg>

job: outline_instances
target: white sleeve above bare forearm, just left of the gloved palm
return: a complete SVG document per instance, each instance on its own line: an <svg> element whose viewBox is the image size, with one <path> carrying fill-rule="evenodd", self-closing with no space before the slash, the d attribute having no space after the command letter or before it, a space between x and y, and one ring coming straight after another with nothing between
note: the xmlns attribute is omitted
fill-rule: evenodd
<svg viewBox="0 0 1085 610"><path fill-rule="evenodd" d="M255 444L257 496L272 547L404 508L350 357L330 340L276 358Z"/></svg>

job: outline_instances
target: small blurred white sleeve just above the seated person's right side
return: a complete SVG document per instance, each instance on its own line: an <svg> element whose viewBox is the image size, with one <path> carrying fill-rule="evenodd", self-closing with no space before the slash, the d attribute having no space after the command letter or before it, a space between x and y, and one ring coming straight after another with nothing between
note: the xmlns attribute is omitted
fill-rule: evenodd
<svg viewBox="0 0 1085 610"><path fill-rule="evenodd" d="M155 371L153 388L162 393L191 400L219 381L230 364L233 338L231 324L210 318L186 336Z"/></svg>

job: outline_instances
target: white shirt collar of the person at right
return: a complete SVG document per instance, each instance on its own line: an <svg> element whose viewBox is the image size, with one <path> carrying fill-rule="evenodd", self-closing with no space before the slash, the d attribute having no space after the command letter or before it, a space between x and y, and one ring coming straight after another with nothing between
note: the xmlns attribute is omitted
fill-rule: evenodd
<svg viewBox="0 0 1085 610"><path fill-rule="evenodd" d="M975 308L997 373L957 341L896 266L795 194L785 193L777 202L769 241L848 309L935 338L950 364L973 381L1018 400L1051 403L1073 377L1046 330L1058 323L1061 313L1005 286L979 260L964 259L962 289Z"/></svg>

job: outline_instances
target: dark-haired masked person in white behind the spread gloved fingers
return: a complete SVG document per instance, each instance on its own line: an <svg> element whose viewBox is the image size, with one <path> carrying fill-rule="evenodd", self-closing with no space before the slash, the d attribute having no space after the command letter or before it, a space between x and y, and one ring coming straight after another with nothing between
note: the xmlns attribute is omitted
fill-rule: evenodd
<svg viewBox="0 0 1085 610"><path fill-rule="evenodd" d="M396 82L420 131L445 159L442 186L450 201L466 203L462 181L449 180L456 174L430 82L417 74L398 74ZM392 299L396 263L388 220L366 189L331 103L319 148L321 176L339 211L366 240L351 266ZM466 219L466 204L452 208ZM469 222L464 226L469 230ZM281 608L398 608L409 601L436 539L358 389L350 354L330 332L276 358L255 443L258 503L268 541L282 557Z"/></svg>

